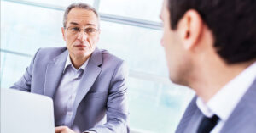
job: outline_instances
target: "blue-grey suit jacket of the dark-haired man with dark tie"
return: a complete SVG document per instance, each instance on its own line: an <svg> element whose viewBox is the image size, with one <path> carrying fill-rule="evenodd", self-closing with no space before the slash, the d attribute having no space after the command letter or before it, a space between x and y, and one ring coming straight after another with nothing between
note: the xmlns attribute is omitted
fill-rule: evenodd
<svg viewBox="0 0 256 133"><path fill-rule="evenodd" d="M231 94L230 94L231 97ZM197 108L196 97L189 103L183 114L176 133L195 133L203 114ZM250 86L236 108L230 114L220 133L255 133L256 132L256 80Z"/></svg>

